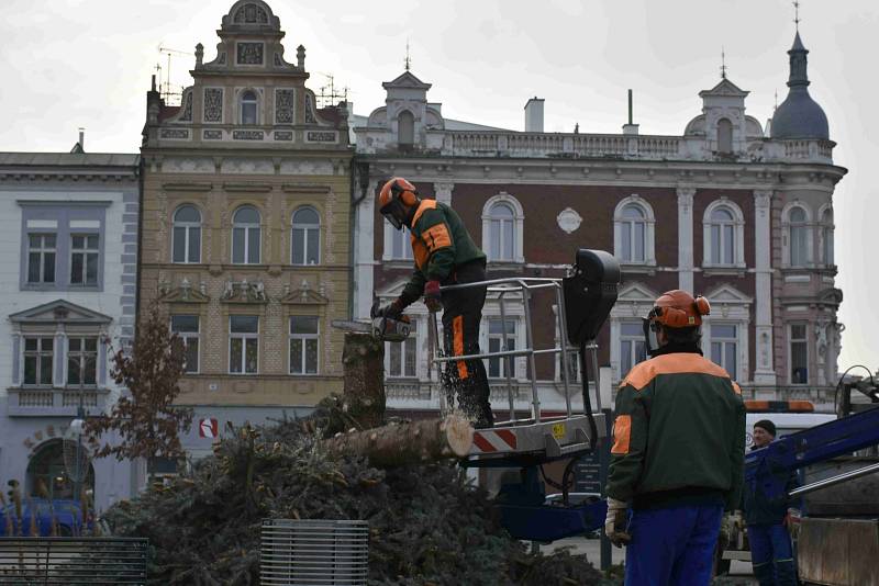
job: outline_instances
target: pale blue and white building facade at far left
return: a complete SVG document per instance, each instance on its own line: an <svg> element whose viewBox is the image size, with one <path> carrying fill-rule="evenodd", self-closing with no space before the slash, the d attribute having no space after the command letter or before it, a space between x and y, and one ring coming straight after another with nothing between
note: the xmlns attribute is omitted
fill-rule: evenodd
<svg viewBox="0 0 879 586"><path fill-rule="evenodd" d="M134 334L137 155L0 153L0 480L105 509L142 471L89 461L70 422L119 396L110 356Z"/></svg>

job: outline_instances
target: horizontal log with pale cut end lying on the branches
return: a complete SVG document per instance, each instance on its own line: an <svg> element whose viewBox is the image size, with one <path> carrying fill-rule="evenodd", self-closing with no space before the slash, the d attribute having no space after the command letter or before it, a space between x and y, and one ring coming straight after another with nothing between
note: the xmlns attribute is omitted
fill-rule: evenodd
<svg viewBox="0 0 879 586"><path fill-rule="evenodd" d="M459 415L352 430L324 441L331 452L366 455L371 464L382 467L463 458L470 453L472 443L474 428Z"/></svg>

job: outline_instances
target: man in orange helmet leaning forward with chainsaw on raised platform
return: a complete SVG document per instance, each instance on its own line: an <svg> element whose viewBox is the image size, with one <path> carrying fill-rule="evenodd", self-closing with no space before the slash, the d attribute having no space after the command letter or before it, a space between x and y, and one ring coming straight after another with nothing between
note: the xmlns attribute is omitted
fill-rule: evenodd
<svg viewBox="0 0 879 586"><path fill-rule="evenodd" d="M397 229L410 230L415 270L403 292L379 313L399 316L424 295L427 309L443 309L446 356L479 352L479 322L486 303L486 286L446 291L439 288L486 280L486 253L474 244L455 211L436 200L422 200L415 187L393 178L381 188L379 211ZM457 392L457 404L477 428L491 427L486 365L481 360L447 362L443 383L449 398Z"/></svg>

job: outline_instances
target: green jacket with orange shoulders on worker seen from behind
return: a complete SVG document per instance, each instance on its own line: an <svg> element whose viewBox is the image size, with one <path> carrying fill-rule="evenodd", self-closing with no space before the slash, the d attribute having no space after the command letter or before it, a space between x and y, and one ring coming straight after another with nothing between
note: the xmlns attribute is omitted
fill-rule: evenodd
<svg viewBox="0 0 879 586"><path fill-rule="evenodd" d="M608 495L635 508L722 502L738 506L745 405L717 364L696 352L636 364L620 385Z"/></svg>

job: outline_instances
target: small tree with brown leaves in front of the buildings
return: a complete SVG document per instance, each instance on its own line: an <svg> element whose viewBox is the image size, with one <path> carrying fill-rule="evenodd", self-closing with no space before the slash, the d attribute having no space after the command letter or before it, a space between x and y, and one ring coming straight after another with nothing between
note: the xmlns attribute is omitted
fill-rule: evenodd
<svg viewBox="0 0 879 586"><path fill-rule="evenodd" d="M185 356L182 340L170 331L158 303L153 303L131 351L120 348L113 356L110 374L129 395L120 397L110 415L86 421L85 433L97 458L183 455L178 433L189 431L192 409L175 406L174 401L180 394ZM113 432L120 440L102 444L101 437Z"/></svg>

